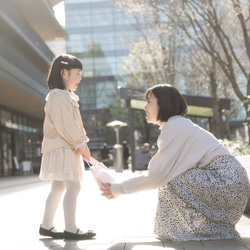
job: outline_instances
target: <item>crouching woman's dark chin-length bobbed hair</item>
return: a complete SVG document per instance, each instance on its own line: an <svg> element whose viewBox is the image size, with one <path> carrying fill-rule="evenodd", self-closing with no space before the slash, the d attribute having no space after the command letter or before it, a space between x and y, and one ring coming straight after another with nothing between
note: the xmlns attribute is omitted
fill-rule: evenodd
<svg viewBox="0 0 250 250"><path fill-rule="evenodd" d="M150 94L157 98L159 113L157 120L166 122L175 115L185 116L187 113L187 103L181 93L170 84L159 84L149 88L145 93L147 101Z"/></svg>

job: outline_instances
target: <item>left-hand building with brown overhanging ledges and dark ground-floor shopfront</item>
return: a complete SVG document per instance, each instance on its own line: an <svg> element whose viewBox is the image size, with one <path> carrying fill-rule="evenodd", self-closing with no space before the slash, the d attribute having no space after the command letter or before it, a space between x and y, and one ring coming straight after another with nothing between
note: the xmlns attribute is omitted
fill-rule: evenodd
<svg viewBox="0 0 250 250"><path fill-rule="evenodd" d="M52 10L58 2L0 0L0 177L19 173L22 162L39 171L46 75L54 58L46 42L67 38Z"/></svg>

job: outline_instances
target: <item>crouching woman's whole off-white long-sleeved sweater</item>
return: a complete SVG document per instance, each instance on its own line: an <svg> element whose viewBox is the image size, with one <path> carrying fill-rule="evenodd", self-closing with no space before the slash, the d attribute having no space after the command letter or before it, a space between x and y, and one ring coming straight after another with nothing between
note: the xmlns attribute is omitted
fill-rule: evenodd
<svg viewBox="0 0 250 250"><path fill-rule="evenodd" d="M114 196L158 188L191 168L200 168L220 155L230 153L208 131L181 116L173 116L160 127L158 151L146 174L112 183Z"/></svg>

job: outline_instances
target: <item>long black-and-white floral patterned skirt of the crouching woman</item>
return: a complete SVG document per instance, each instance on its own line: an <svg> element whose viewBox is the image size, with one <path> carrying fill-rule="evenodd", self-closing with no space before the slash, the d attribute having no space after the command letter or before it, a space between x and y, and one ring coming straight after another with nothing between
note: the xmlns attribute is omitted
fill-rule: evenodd
<svg viewBox="0 0 250 250"><path fill-rule="evenodd" d="M235 224L250 196L247 173L233 156L219 156L159 188L154 233L178 241L238 238Z"/></svg>

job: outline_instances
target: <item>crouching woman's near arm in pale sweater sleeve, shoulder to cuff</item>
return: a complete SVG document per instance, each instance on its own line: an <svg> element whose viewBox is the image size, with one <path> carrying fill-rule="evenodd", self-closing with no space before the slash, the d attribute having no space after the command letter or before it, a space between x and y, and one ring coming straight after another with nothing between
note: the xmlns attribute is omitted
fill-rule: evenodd
<svg viewBox="0 0 250 250"><path fill-rule="evenodd" d="M147 173L119 183L111 183L113 196L158 188L186 170L195 167L206 149L194 143L195 128L186 120L167 122L158 138L158 152ZM197 141L197 140L195 140Z"/></svg>

